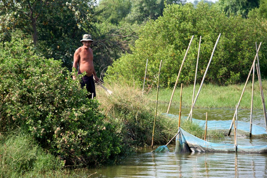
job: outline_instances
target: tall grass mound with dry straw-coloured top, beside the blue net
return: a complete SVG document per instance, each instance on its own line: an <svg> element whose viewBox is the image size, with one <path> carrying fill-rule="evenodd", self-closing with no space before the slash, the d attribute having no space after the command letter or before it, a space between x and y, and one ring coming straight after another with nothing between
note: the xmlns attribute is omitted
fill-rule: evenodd
<svg viewBox="0 0 267 178"><path fill-rule="evenodd" d="M142 96L142 91L127 85L113 84L107 86L113 91L106 95L98 91L98 100L108 122L115 125L123 143L128 147L151 145L155 107L150 100ZM155 106L155 105L154 105ZM178 131L175 120L163 117L158 111L156 116L153 144L166 144Z"/></svg>

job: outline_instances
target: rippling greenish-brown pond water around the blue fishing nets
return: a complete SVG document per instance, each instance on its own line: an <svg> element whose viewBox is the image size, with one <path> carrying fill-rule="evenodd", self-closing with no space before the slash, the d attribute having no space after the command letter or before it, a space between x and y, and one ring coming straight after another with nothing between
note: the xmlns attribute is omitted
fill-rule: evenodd
<svg viewBox="0 0 267 178"><path fill-rule="evenodd" d="M159 105L159 109L168 106ZM188 116L190 109L183 108L182 116ZM232 120L231 109L194 109L193 118L208 120ZM169 114L179 115L177 107L171 107ZM262 110L252 113L252 123L266 128ZM250 110L239 110L238 120L249 122ZM229 126L230 127L230 126ZM249 138L248 142L251 142ZM261 140L266 144L266 140ZM156 146L158 147L158 146ZM90 177L108 178L176 178L176 177L267 177L267 154L241 153L173 153L174 145L168 145L171 152L155 153L151 148L138 150L121 165L89 169Z"/></svg>

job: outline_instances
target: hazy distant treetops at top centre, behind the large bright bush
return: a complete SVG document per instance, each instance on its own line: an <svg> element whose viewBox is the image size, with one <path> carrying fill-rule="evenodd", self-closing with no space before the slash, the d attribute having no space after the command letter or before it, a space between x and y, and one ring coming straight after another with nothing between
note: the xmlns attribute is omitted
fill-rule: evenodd
<svg viewBox="0 0 267 178"><path fill-rule="evenodd" d="M186 0L101 0L97 10L98 19L113 24L142 24L162 16L166 4L185 4Z"/></svg>

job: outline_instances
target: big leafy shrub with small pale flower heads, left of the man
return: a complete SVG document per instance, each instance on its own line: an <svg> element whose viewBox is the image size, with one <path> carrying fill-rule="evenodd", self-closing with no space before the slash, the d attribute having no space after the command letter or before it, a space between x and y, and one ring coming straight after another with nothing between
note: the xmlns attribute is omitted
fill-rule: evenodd
<svg viewBox="0 0 267 178"><path fill-rule="evenodd" d="M60 61L36 55L20 33L0 49L0 131L27 130L66 165L99 165L120 155L110 123Z"/></svg>

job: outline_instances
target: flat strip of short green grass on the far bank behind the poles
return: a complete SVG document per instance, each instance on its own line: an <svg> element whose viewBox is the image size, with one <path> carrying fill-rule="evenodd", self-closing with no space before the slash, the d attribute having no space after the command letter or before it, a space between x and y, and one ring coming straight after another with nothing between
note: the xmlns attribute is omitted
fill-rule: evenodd
<svg viewBox="0 0 267 178"><path fill-rule="evenodd" d="M262 81L263 94L267 93L267 80ZM198 93L200 85L196 86L195 97ZM239 102L244 84L217 86L211 84L204 84L198 95L195 108L231 108L234 109ZM171 104L180 103L180 86L177 85L172 98ZM158 93L158 102L169 103L173 88L160 88ZM147 97L151 100L156 99L157 90L153 89ZM239 109L249 109L251 107L252 96L252 82L248 82L244 94L242 96ZM185 86L182 89L182 106L191 107L193 96L193 85ZM266 98L265 98L266 99ZM259 82L255 81L254 96L253 96L253 109L263 109L262 100L260 95Z"/></svg>

